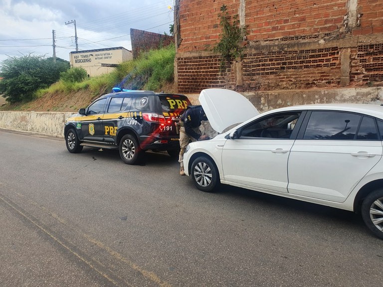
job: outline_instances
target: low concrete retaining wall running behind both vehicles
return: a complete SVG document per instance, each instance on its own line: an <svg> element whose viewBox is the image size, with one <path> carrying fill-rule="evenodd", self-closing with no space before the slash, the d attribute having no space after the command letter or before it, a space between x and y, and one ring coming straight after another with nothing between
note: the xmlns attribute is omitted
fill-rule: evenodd
<svg viewBox="0 0 383 287"><path fill-rule="evenodd" d="M383 104L383 87L315 90L279 90L242 92L259 112L302 104L359 103ZM193 105L199 105L199 93L186 94ZM235 104L233 105L235 109ZM75 112L0 112L0 129L27 131L63 137L65 119ZM214 132L205 126L206 132Z"/></svg>

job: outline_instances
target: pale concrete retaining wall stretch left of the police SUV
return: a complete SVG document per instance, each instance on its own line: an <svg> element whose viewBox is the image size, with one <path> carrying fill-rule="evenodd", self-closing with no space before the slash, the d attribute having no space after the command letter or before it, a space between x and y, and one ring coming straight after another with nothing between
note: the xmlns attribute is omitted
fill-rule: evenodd
<svg viewBox="0 0 383 287"><path fill-rule="evenodd" d="M0 112L0 128L63 138L65 119L74 113Z"/></svg>

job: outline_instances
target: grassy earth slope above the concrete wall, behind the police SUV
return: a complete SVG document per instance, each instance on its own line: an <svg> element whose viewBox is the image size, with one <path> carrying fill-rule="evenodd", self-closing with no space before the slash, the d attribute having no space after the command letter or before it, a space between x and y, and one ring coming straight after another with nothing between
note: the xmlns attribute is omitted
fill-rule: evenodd
<svg viewBox="0 0 383 287"><path fill-rule="evenodd" d="M149 51L140 59L122 63L110 74L81 83L59 81L36 93L36 99L27 103L3 105L0 111L77 112L94 99L111 92L127 75L123 88L176 93L174 86L174 46Z"/></svg>

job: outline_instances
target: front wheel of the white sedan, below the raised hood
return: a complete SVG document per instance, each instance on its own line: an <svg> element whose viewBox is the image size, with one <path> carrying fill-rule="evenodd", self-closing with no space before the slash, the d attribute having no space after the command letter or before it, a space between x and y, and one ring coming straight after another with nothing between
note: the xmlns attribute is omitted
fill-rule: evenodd
<svg viewBox="0 0 383 287"><path fill-rule="evenodd" d="M218 170L207 157L199 156L192 163L191 175L194 185L201 191L214 192L218 184Z"/></svg>

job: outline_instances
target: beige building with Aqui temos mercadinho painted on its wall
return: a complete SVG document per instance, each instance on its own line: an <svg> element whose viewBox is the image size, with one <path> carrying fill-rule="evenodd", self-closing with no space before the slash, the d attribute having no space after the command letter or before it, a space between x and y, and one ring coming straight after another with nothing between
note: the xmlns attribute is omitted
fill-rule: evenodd
<svg viewBox="0 0 383 287"><path fill-rule="evenodd" d="M132 51L123 47L69 53L70 66L84 68L90 77L109 73L118 64L132 59Z"/></svg>

